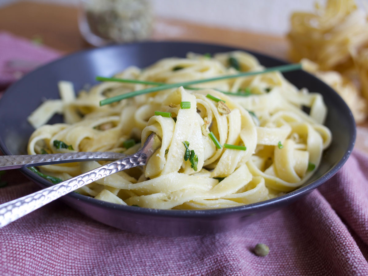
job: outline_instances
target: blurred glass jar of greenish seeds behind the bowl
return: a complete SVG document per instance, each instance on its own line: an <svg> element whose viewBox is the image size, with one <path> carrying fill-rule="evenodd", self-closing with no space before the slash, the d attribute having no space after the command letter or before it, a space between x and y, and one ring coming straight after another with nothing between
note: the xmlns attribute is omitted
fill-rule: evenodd
<svg viewBox="0 0 368 276"><path fill-rule="evenodd" d="M87 42L103 46L149 38L153 13L148 0L80 0L79 30Z"/></svg>

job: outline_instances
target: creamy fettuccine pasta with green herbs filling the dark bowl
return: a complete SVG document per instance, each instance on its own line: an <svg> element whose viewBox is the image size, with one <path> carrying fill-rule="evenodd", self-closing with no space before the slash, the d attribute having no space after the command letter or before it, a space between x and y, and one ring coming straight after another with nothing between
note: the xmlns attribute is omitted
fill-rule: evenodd
<svg viewBox="0 0 368 276"><path fill-rule="evenodd" d="M176 83L235 74L230 57L241 71L263 69L245 52L213 57L189 53L185 59L166 58L144 69L129 67L115 77ZM162 145L145 167L120 171L78 192L122 205L209 209L251 204L293 191L313 174L332 139L323 125L327 110L322 96L297 89L277 71L99 106L102 99L146 87L103 82L76 97L70 82L60 82L61 99L44 102L29 116L36 130L29 138L28 153L131 154L155 132ZM62 113L65 123L46 124L54 113ZM187 153L190 158L185 159ZM47 165L40 170L66 180L105 163Z"/></svg>

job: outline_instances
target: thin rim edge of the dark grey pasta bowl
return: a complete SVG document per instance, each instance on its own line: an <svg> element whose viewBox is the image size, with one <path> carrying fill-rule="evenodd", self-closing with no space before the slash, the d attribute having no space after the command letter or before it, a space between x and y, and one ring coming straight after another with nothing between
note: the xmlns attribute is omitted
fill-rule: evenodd
<svg viewBox="0 0 368 276"><path fill-rule="evenodd" d="M0 99L0 101L3 101L4 98L6 98L6 96L8 94L10 94L10 91L12 89L14 89L14 87L19 83L22 82L24 80L26 80L27 78L31 78L33 74L35 74L36 72L38 72L39 70L44 70L45 67L50 67L53 66L54 64L59 63L61 60L67 60L67 59L73 59L74 56L78 56L81 54L86 54L86 53L90 53L90 52L99 52L99 51L105 51L106 49L110 49L110 48L115 48L115 47L135 47L135 46L139 46L139 45L144 45L144 44L187 44L187 45L197 45L197 46L218 46L218 47L224 47L227 48L228 51L234 51L234 50L241 50L241 51L245 51L248 52L250 54L255 54L258 56L262 56L265 57L267 59L272 59L274 61L277 61L279 63L283 63L283 64L290 64L287 61L284 61L282 59L273 57L273 56L269 56L268 54L264 54L264 53L260 53L254 50L249 50L249 49L245 49L245 48L241 48L241 47L236 47L236 46L229 46L229 45L222 45L219 43L203 43L203 42L195 42L195 41L170 41L170 40L164 40L164 41L144 41L144 42L133 42L133 43L125 43L125 44L112 44L112 45L107 45L104 47L99 47L99 48L91 48L91 49L83 49L83 50L79 50L77 52L71 53L71 54L67 54L66 56L62 56L59 59L56 59L50 63L47 63L43 66L40 66L39 68L36 68L35 70L29 72L28 74L26 74L23 78L21 78L20 80L14 82L13 84L11 84L5 91L5 93L3 94L3 97ZM309 74L308 72L305 72L305 74L311 75L312 77L316 78L314 75ZM126 206L126 205L121 205L121 204L116 204L116 203L112 203L112 202L106 202L106 201L101 201L99 199L95 199L92 197L88 197L86 195L81 195L81 194L77 194L75 192L70 192L69 194L61 197L61 199L63 199L64 197L71 197L77 200L81 200L84 201L86 204L93 204L93 205L98 205L102 208L105 209L110 209L110 210L118 210L118 211L124 211L124 212L132 212L135 214L141 214L141 215L154 215L154 216L158 216L158 217L187 217L187 218L193 218L193 217L197 217L197 218L204 218L204 217L214 217L214 216L222 216L222 215L233 215L236 213L252 213L255 212L256 210L262 209L262 210L266 210L266 209L270 209L275 207L275 205L284 205L284 203L286 202L293 202L294 200L296 200L299 197L303 197L305 195L307 195L309 192L311 192L312 190L314 190L315 188L317 188L319 185L325 183L329 178L331 178L334 174L337 173L337 171L339 169L341 169L341 167L344 165L344 163L347 161L348 157L350 156L351 152L353 151L354 145L355 145L355 139L356 139L356 125L355 125L355 120L353 117L353 114L351 112L351 110L349 109L349 107L347 106L346 102L340 97L340 95L329 85L325 84L323 81L321 81L320 79L316 78L319 82L321 82L322 85L326 86L326 88L332 90L335 93L336 96L336 100L340 101L340 105L342 105L343 109L342 113L344 114L348 114L348 120L350 121L350 130L348 131L349 133L351 133L352 135L350 135L349 137L349 142L348 142L348 147L343 155L343 157L339 160L339 162L337 162L337 164L335 166L333 166L331 169L329 169L328 171L326 171L321 177L319 177L318 179L312 181L311 183L306 184L303 187L297 188L296 190L289 192L285 195L282 195L280 197L276 197L276 198L272 198L272 199L268 199L266 201L261 201L261 202L255 202L252 204L246 204L246 205L241 205L241 206L236 206L236 207L228 207L228 208L218 208L218 209L198 209L198 210L176 210L176 209L153 209L153 208L137 208L135 206ZM0 136L0 150L7 155L11 155L11 152L8 150L8 148L5 146L5 142L3 141L3 139ZM50 182L47 181L46 179L36 175L35 173L33 173L32 171L26 169L26 168L22 168L20 169L20 171L25 174L26 177L28 177L29 179L31 179L33 182L35 182L36 184L40 185L41 187L45 188L45 187L49 187L50 186Z"/></svg>

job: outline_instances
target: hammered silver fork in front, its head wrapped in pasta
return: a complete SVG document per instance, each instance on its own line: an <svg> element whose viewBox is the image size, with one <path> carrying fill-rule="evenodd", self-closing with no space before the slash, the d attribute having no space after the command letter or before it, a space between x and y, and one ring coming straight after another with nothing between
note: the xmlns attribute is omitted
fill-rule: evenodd
<svg viewBox="0 0 368 276"><path fill-rule="evenodd" d="M145 165L151 155L160 147L160 144L159 138L153 133L148 137L143 148L132 155L34 192L33 194L26 195L25 197L1 204L0 228L86 184L121 170Z"/></svg>

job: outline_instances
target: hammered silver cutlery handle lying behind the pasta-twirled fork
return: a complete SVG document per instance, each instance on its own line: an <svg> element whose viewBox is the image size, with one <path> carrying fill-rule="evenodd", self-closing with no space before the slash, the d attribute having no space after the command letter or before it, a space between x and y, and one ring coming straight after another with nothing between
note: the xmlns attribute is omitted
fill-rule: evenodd
<svg viewBox="0 0 368 276"><path fill-rule="evenodd" d="M126 155L118 152L66 152L35 155L3 155L0 156L0 171L70 162L116 160L124 156Z"/></svg>

